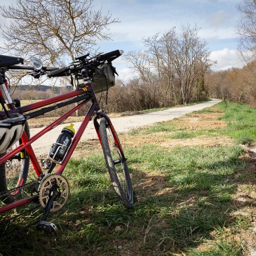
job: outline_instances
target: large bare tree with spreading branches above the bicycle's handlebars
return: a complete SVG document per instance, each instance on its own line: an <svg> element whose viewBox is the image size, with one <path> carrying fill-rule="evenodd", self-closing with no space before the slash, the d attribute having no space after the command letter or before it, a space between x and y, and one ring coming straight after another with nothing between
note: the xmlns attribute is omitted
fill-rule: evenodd
<svg viewBox="0 0 256 256"><path fill-rule="evenodd" d="M110 13L95 11L93 0L17 0L1 9L11 20L2 28L6 51L54 66L96 51L96 41L110 39L108 26L119 22Z"/></svg>

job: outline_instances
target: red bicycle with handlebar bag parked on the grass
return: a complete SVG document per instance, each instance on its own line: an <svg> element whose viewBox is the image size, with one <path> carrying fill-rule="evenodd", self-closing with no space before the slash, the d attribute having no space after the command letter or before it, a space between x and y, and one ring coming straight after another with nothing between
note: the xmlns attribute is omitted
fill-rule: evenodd
<svg viewBox="0 0 256 256"><path fill-rule="evenodd" d="M4 99L9 110L5 109L2 104L4 111L0 111L0 121L6 118L6 116L11 118L14 114L22 115L25 121L24 131L21 138L17 141L16 147L0 155L0 199L6 202L6 205L0 207L0 213L30 202L36 202L44 208L44 214L37 228L44 229L47 232L54 232L56 230L56 226L53 223L46 222L45 220L50 212L59 211L68 200L70 189L67 179L65 179L62 174L83 131L93 116L93 123L98 135L98 140L103 149L113 188L126 208L131 208L134 205L134 195L127 159L125 158L122 146L110 118L103 113L99 107L95 95L96 87L94 86L98 86L98 91L108 90L108 87L113 86L113 77L116 71L111 63L117 57L121 56L122 53L122 50L116 50L107 54L98 54L92 58L89 58L89 54L85 54L75 58L75 62L70 63L65 68L43 67L42 62L36 58L31 58L33 67L26 67L15 65L21 63L21 58L4 57L5 61L0 64L0 79L2 79L0 83L2 97L0 97L0 99L1 103ZM5 72L11 69L32 70L30 74L36 78L44 74L47 74L48 77L71 76L72 85L75 87L75 90L21 107L19 101L12 101L7 89ZM70 143L68 143L68 141L62 144L54 143L48 157L41 159L41 168L31 144L90 101L92 104L73 139L70 140ZM50 125L43 128L39 133L30 137L27 125L28 119L73 103L77 103L77 105ZM51 106L48 106L50 104ZM30 111L30 113L26 114L28 111ZM101 119L100 122L98 122L98 119ZM69 129L72 130L70 127ZM51 150L55 150L52 152L54 154L50 154ZM20 163L18 173L15 174L12 172L13 177L10 177L9 174L7 177L6 168L15 165L15 161ZM33 165L37 178L34 181L27 182L30 162ZM57 168L54 171L56 166ZM45 173L42 169L45 170ZM10 188L10 186L13 187ZM30 196L21 198L24 188L29 188Z"/></svg>

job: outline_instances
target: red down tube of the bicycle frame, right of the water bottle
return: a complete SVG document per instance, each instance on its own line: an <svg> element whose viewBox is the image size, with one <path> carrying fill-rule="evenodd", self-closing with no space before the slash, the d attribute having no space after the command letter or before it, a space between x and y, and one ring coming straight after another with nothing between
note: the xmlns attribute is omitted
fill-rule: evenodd
<svg viewBox="0 0 256 256"><path fill-rule="evenodd" d="M71 158L71 155L73 154L74 152L74 149L75 147L77 146L77 143L79 142L82 134L83 134L83 131L85 130L86 126L88 125L96 107L97 107L98 103L92 103L92 106L89 108L88 112L86 113L86 116L85 118L83 119L83 122L81 123L76 135L74 136L74 139L72 140L72 143L71 143L71 146L70 148L68 149L68 153L67 155L65 156L65 159L63 160L63 163L59 165L59 167L57 168L56 172L57 174L62 174L69 159Z"/></svg>

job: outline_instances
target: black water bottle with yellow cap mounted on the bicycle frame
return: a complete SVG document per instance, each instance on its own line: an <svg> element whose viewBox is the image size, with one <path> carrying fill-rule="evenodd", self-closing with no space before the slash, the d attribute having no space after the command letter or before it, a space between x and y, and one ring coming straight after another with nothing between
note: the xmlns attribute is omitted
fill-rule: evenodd
<svg viewBox="0 0 256 256"><path fill-rule="evenodd" d="M51 147L49 155L58 163L63 160L65 153L67 152L68 147L71 144L72 138L74 137L75 131L73 126L74 124L65 126L62 129L56 143Z"/></svg>

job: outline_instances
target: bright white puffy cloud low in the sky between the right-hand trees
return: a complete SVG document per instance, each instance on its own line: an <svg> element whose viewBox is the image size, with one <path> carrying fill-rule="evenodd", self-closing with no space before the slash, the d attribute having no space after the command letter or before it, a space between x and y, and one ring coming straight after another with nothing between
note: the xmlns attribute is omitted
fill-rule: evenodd
<svg viewBox="0 0 256 256"><path fill-rule="evenodd" d="M224 48L218 51L211 52L211 60L217 60L217 64L213 66L213 70L228 69L228 68L241 68L242 61L238 57L237 50L229 50Z"/></svg>

